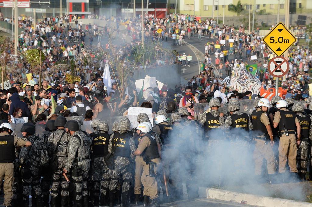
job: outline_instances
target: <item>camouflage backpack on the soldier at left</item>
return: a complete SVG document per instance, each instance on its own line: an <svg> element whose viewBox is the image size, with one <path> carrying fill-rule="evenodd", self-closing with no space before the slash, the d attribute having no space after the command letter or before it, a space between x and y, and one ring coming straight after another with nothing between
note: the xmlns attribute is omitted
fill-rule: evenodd
<svg viewBox="0 0 312 207"><path fill-rule="evenodd" d="M49 154L44 140L35 140L32 144L32 164L42 167L49 164Z"/></svg>

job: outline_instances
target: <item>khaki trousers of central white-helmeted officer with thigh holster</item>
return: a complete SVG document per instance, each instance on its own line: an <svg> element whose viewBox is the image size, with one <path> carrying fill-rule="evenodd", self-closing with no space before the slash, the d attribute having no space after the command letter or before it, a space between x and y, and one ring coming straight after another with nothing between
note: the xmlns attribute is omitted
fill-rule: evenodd
<svg viewBox="0 0 312 207"><path fill-rule="evenodd" d="M159 165L160 159L159 158L152 159L152 162ZM156 177L150 177L149 176L149 165L147 165L143 161L143 159L142 159L141 163L143 165L143 173L141 176L141 181L142 181L142 184L144 186L143 195L148 195L151 200L158 198L158 186L157 186ZM155 167L156 172L157 172L157 168L158 168L158 166Z"/></svg>

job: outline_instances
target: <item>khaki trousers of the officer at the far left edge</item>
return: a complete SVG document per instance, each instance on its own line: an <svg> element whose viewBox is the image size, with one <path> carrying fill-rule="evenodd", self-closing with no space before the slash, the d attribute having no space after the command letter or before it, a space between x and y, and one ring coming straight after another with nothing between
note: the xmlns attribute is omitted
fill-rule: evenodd
<svg viewBox="0 0 312 207"><path fill-rule="evenodd" d="M3 183L4 203L3 205L11 206L13 196L13 182L14 182L14 165L13 163L0 163L0 186Z"/></svg>

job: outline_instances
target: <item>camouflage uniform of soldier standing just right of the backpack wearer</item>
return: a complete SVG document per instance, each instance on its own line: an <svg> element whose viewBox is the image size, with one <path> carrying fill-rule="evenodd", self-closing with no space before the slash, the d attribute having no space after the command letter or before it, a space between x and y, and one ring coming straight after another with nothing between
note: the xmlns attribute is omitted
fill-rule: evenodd
<svg viewBox="0 0 312 207"><path fill-rule="evenodd" d="M66 204L65 197L69 195L69 183L66 182L65 177L62 175L63 168L65 167L67 161L67 147L69 139L70 135L67 134L64 129L58 129L53 132L51 136L49 136L47 143L49 154L56 153L58 158L58 169L53 172L52 175L51 200L53 200L53 198L56 199L61 184L62 206ZM67 177L69 177L68 174Z"/></svg>

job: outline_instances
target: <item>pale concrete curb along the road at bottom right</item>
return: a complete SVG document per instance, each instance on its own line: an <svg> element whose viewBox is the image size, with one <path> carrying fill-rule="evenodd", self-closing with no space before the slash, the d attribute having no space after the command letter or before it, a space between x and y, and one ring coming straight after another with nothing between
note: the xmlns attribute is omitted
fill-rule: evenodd
<svg viewBox="0 0 312 207"><path fill-rule="evenodd" d="M206 198L218 199L218 200L226 200L240 203L242 200L246 200L248 205L256 205L256 206L283 206L283 207L312 207L312 203L307 202L299 202L295 200L287 200L280 198L272 198L267 196L253 195L247 193L237 193L232 191L219 190L215 188L206 188L206 195L203 194L204 189L199 189L200 196L205 196Z"/></svg>

